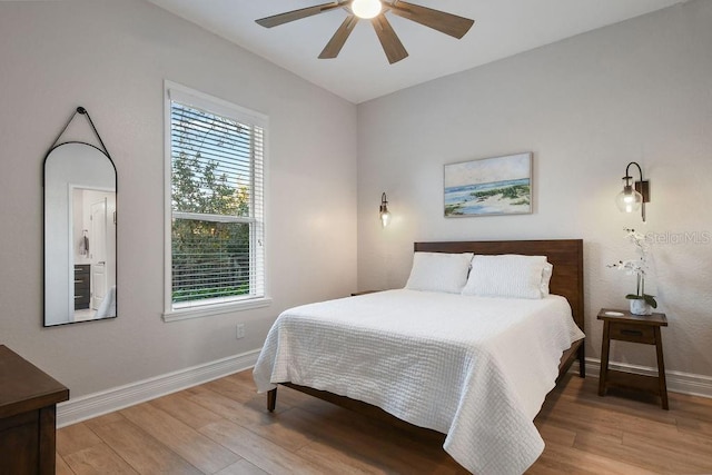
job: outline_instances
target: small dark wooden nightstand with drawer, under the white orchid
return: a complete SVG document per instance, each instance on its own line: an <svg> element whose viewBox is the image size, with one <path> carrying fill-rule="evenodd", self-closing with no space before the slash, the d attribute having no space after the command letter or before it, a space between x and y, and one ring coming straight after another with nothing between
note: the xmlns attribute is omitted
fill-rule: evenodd
<svg viewBox="0 0 712 475"><path fill-rule="evenodd" d="M641 389L660 396L663 409L668 409L668 385L663 362L663 339L661 327L668 326L665 314L633 315L627 310L602 308L599 319L603 320L603 343L601 349L601 376L599 396L604 396L609 387ZM657 354L657 376L636 375L609 369L611 340L655 345Z"/></svg>

